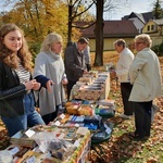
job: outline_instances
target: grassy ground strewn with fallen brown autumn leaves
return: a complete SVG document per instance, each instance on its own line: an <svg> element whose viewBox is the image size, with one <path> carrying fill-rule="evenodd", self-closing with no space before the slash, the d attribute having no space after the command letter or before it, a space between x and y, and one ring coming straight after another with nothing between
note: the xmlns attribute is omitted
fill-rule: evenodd
<svg viewBox="0 0 163 163"><path fill-rule="evenodd" d="M105 63L116 63L117 55L104 55ZM163 76L163 58L160 58ZM101 67L96 67L101 68ZM128 137L135 130L134 117L122 120L118 114L123 112L120 84L111 82L109 98L115 99L116 113L109 121L114 123L112 136L105 142L95 145L89 158L92 163L162 163L163 162L163 97L154 100L160 111L152 123L151 137L148 140L136 141Z"/></svg>

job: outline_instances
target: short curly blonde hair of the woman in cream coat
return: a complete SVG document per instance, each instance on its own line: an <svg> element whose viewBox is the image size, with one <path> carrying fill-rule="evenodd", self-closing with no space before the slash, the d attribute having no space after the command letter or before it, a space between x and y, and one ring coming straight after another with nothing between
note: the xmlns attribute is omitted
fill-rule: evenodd
<svg viewBox="0 0 163 163"><path fill-rule="evenodd" d="M151 48L152 46L152 40L150 38L150 36L148 34L140 34L140 35L137 35L134 39L134 41L142 41L148 48Z"/></svg>

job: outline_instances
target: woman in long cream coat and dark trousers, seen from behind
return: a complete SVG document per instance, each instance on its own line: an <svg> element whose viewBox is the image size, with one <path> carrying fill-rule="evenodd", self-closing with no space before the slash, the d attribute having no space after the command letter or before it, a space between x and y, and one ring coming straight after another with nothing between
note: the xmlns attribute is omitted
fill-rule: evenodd
<svg viewBox="0 0 163 163"><path fill-rule="evenodd" d="M135 37L137 54L129 70L133 85L129 101L134 102L136 126L130 136L138 139L150 137L152 101L162 95L160 62L151 45L147 34Z"/></svg>

